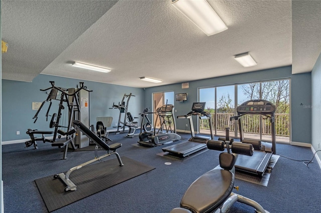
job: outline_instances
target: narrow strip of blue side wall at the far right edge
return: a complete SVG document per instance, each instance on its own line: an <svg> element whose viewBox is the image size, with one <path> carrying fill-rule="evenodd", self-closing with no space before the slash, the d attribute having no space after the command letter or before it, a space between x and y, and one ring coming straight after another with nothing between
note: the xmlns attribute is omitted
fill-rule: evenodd
<svg viewBox="0 0 321 213"><path fill-rule="evenodd" d="M319 150L321 147L320 132L321 132L321 53L316 60L316 63L311 72L311 96L312 104L312 146L314 150ZM316 153L321 158L321 153Z"/></svg>

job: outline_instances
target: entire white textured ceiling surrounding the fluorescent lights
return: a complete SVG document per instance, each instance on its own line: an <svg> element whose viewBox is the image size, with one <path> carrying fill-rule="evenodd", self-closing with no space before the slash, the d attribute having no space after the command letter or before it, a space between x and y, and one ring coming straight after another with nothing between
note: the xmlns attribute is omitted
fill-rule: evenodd
<svg viewBox="0 0 321 213"><path fill-rule="evenodd" d="M293 73L311 71L321 52L321 1L208 1L228 26L211 36L171 0L3 0L3 78L32 81L43 73L150 87L291 64ZM246 51L258 65L233 59Z"/></svg>

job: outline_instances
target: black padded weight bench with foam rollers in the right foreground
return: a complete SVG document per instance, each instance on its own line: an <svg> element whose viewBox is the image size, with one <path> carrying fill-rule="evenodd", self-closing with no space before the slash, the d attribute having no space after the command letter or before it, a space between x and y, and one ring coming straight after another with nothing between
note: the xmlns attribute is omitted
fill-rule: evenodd
<svg viewBox="0 0 321 213"><path fill-rule="evenodd" d="M226 129L225 141L209 140L207 147L213 150L227 152L220 153L220 165L206 172L196 179L185 192L181 207L174 208L170 213L187 212L227 212L236 202L242 202L255 208L258 213L269 213L259 203L232 192L235 179L235 161L238 154L252 155L254 148L252 144L230 142L229 128ZM233 152L233 153L231 153Z"/></svg>

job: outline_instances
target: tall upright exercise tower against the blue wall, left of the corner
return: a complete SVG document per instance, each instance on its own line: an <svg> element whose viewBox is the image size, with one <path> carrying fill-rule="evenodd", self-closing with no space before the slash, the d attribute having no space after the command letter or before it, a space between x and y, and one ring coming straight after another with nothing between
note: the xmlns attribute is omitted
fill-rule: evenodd
<svg viewBox="0 0 321 213"><path fill-rule="evenodd" d="M118 102L118 105L115 104L115 102L112 104L112 108L117 108L119 109L119 118L118 118L118 124L117 126L113 126L113 127L117 127L117 131L116 134L119 133L125 133L125 127L126 127L126 116L127 116L127 112L128 112L128 103L129 103L129 99L131 96L135 96L133 95L131 92L129 94L124 94L124 96L121 99L121 102ZM125 99L127 99L125 101ZM122 118L123 117L123 118ZM122 129L122 130L120 130Z"/></svg>

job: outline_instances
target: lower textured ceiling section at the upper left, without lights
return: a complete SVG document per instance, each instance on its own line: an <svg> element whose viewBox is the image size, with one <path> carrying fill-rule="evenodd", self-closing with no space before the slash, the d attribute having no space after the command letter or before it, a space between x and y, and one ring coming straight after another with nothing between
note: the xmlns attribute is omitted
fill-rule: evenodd
<svg viewBox="0 0 321 213"><path fill-rule="evenodd" d="M32 81L116 2L2 0L2 77Z"/></svg>

